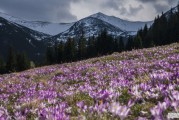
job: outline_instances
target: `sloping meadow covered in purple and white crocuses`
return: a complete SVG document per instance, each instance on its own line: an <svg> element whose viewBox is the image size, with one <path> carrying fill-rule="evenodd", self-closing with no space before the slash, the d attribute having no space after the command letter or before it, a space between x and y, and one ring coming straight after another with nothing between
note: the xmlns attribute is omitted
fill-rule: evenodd
<svg viewBox="0 0 179 120"><path fill-rule="evenodd" d="M179 44L0 76L0 119L164 119L179 110Z"/></svg>

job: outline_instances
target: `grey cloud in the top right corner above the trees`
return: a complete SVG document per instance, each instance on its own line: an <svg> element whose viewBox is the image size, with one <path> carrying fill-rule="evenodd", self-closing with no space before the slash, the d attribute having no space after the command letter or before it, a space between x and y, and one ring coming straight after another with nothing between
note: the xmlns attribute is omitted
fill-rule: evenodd
<svg viewBox="0 0 179 120"><path fill-rule="evenodd" d="M142 3L149 3L154 6L157 13L166 12L171 7L177 5L177 0L137 0ZM165 2L165 4L163 4Z"/></svg>

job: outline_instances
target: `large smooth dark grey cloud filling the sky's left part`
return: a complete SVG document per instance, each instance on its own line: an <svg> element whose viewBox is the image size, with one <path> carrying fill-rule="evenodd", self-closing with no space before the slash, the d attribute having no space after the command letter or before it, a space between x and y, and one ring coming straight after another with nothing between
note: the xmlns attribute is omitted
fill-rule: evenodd
<svg viewBox="0 0 179 120"><path fill-rule="evenodd" d="M0 0L0 8L9 14L26 19L69 22L77 20L77 17L70 13L70 4L73 1Z"/></svg>

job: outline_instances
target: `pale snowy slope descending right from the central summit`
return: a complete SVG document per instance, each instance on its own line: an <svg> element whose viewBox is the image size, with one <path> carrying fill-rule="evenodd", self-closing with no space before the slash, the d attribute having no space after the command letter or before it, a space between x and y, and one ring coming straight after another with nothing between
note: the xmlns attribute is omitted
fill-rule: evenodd
<svg viewBox="0 0 179 120"><path fill-rule="evenodd" d="M145 24L150 26L153 23L152 21L150 21L150 22L140 22L140 21L133 22L133 21L122 20L115 16L107 16L100 12L93 14L90 17L98 18L100 20L108 22L111 25L114 25L114 26L116 26L124 31L128 31L128 32L136 32L140 28L144 27Z"/></svg>

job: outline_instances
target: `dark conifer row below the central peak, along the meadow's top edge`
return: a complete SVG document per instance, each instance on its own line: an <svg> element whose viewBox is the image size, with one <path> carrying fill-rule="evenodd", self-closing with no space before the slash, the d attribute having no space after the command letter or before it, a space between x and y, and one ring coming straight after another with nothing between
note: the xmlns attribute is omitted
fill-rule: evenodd
<svg viewBox="0 0 179 120"><path fill-rule="evenodd" d="M79 39L68 38L67 41L49 45L46 50L46 63L64 63L121 52L124 50L123 38L113 38L102 30L98 37L86 39L81 35Z"/></svg>

